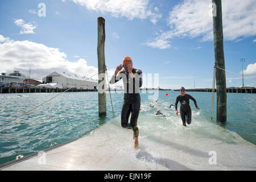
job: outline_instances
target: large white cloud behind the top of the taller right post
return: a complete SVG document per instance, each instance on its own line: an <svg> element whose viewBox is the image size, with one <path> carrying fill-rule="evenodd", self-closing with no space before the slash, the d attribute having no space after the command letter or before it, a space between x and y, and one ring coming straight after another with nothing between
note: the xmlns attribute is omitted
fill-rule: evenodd
<svg viewBox="0 0 256 182"><path fill-rule="evenodd" d="M184 0L176 5L168 18L170 30L151 40L147 46L164 42L174 36L180 38L199 38L201 41L213 40L213 20L209 16L211 1ZM225 40L236 40L256 35L256 1L225 0L222 1L222 21ZM170 42L165 45L171 47ZM162 46L158 48L163 48Z"/></svg>

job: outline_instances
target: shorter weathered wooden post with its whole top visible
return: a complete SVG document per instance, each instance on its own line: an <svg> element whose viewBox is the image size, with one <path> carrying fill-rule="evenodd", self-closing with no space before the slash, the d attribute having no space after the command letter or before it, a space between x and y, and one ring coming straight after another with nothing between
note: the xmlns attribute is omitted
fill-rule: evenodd
<svg viewBox="0 0 256 182"><path fill-rule="evenodd" d="M106 116L105 19L98 18L98 115Z"/></svg>

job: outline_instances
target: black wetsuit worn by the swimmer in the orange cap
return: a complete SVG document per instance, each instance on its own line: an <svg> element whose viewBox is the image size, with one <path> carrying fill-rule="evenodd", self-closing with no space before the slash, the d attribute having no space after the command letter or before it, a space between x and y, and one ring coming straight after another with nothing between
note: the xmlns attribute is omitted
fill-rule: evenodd
<svg viewBox="0 0 256 182"><path fill-rule="evenodd" d="M110 84L114 84L123 79L123 87L125 96L123 98L123 105L121 111L121 125L126 129L133 129L134 137L139 137L139 129L137 121L139 117L139 109L141 108L141 96L139 95L139 88L142 86L142 71L133 69L134 78L132 78L125 71L121 71L117 76L112 76ZM131 120L128 119L131 113Z"/></svg>

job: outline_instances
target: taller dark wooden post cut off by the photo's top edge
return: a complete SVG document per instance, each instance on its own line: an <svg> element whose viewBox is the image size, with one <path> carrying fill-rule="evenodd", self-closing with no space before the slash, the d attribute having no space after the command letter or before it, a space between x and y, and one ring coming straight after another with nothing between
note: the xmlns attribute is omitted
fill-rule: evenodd
<svg viewBox="0 0 256 182"><path fill-rule="evenodd" d="M212 0L212 3L215 65L225 69L221 0ZM216 69L218 122L226 122L226 74L222 69Z"/></svg>

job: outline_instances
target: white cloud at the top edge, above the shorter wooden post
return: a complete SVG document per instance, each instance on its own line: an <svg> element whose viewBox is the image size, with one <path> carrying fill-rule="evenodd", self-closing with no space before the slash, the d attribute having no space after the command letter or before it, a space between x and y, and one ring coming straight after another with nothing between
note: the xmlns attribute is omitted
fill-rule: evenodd
<svg viewBox="0 0 256 182"><path fill-rule="evenodd" d="M156 23L162 17L159 9L153 8L149 0L73 0L73 2L89 10L111 14L116 18L126 17L129 20L150 18L152 23Z"/></svg>

